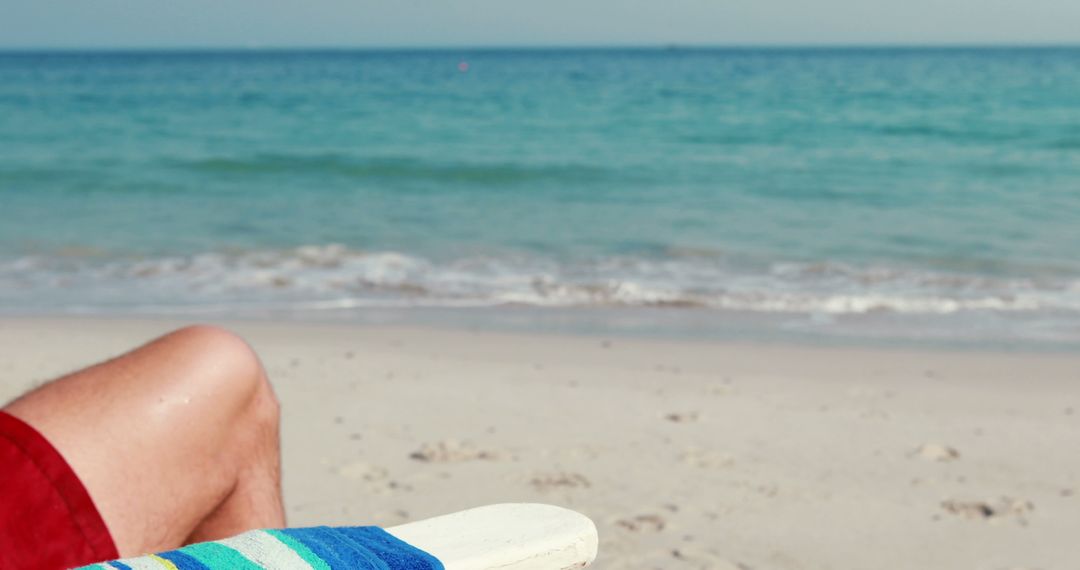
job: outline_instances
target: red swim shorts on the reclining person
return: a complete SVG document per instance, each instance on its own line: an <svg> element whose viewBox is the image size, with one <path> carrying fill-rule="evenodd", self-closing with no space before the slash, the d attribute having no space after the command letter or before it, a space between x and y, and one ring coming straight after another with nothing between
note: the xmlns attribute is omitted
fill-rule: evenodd
<svg viewBox="0 0 1080 570"><path fill-rule="evenodd" d="M59 451L0 411L0 569L55 570L118 557L90 493Z"/></svg>

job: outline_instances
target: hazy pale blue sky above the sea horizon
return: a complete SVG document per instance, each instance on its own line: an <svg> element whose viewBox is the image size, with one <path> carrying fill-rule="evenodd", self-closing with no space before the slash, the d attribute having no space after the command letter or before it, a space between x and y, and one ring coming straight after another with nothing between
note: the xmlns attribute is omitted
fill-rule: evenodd
<svg viewBox="0 0 1080 570"><path fill-rule="evenodd" d="M0 49L1076 44L1078 0L0 0Z"/></svg>

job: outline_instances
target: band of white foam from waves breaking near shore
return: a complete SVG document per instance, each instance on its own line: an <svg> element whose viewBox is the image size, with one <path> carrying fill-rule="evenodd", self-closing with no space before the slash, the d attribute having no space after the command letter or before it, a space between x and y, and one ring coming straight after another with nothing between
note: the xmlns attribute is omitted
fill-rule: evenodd
<svg viewBox="0 0 1080 570"><path fill-rule="evenodd" d="M738 267L723 257L522 255L424 258L342 245L109 259L0 260L0 309L244 307L679 307L846 315L1080 313L1080 279L1028 279L841 263Z"/></svg>

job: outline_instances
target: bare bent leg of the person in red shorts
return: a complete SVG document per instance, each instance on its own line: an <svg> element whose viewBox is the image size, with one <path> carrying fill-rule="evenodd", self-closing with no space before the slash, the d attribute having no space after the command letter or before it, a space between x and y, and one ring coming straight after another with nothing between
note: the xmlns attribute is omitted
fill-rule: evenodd
<svg viewBox="0 0 1080 570"><path fill-rule="evenodd" d="M4 411L60 451L121 556L284 526L278 401L231 332L177 330Z"/></svg>

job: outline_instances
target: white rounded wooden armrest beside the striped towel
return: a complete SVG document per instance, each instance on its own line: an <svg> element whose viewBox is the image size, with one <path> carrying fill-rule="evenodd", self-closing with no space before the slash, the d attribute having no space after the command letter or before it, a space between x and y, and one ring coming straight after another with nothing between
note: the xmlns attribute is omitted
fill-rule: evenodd
<svg viewBox="0 0 1080 570"><path fill-rule="evenodd" d="M446 570L563 570L596 558L596 526L553 505L481 506L386 529Z"/></svg>

